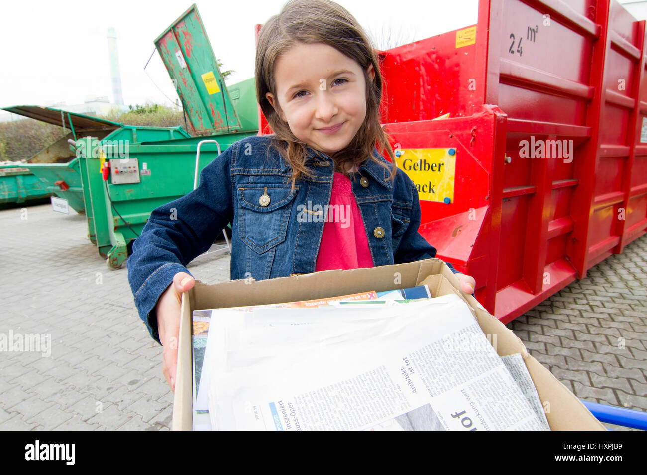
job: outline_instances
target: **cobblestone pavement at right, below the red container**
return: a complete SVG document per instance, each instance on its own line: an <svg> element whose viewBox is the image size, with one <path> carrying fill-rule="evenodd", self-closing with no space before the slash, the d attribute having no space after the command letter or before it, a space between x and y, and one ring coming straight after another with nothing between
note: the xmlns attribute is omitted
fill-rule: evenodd
<svg viewBox="0 0 647 475"><path fill-rule="evenodd" d="M645 269L647 235L507 326L580 399L647 411Z"/></svg>

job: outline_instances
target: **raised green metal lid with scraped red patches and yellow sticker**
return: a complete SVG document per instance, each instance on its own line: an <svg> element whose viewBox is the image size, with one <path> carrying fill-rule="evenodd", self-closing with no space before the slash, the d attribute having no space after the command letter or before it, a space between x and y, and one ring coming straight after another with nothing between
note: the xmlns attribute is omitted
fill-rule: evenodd
<svg viewBox="0 0 647 475"><path fill-rule="evenodd" d="M157 37L155 47L196 134L242 130L195 4Z"/></svg>

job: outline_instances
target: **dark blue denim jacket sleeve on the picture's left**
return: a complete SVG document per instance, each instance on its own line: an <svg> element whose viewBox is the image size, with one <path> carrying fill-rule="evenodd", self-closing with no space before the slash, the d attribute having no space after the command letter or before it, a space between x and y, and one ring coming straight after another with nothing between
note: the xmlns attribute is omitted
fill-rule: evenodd
<svg viewBox="0 0 647 475"><path fill-rule="evenodd" d="M153 308L160 295L176 273L191 274L186 265L209 249L232 220L230 169L236 150L234 143L204 167L195 190L154 209L133 243L133 254L127 260L128 281L139 317L158 342Z"/></svg>

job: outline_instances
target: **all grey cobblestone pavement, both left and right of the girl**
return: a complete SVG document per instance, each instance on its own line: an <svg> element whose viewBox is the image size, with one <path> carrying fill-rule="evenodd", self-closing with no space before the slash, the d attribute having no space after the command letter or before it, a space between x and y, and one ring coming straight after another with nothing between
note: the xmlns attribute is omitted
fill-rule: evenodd
<svg viewBox="0 0 647 475"><path fill-rule="evenodd" d="M105 266L85 215L25 209L0 211L0 334L51 335L50 355L0 352L0 429L168 430L162 348L138 318L126 266ZM509 324L580 399L647 410L646 261L644 236ZM223 282L229 257L189 269Z"/></svg>

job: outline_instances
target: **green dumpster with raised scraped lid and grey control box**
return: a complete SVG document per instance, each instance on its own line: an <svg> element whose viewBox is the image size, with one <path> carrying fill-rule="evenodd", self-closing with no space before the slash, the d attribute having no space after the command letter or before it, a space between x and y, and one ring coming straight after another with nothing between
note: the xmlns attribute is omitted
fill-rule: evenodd
<svg viewBox="0 0 647 475"><path fill-rule="evenodd" d="M103 176L89 174L89 190L96 201L96 246L111 269L127 259L153 209L192 191L195 173L217 157L218 145L225 151L258 133L254 78L225 85L195 5L155 40L155 47L197 137L133 143L129 160L111 158L104 165L97 153L80 158L82 169L105 168ZM208 142L199 145L203 141Z"/></svg>

